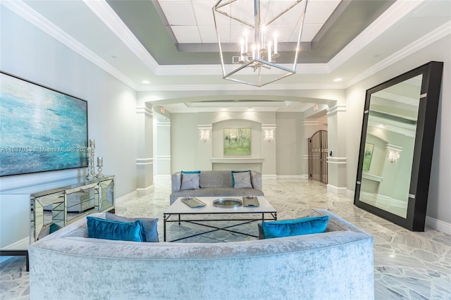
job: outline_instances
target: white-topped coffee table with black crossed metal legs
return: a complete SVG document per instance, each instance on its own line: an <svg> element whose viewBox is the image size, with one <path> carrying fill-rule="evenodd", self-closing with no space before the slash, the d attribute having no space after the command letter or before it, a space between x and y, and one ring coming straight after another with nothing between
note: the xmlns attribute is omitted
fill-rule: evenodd
<svg viewBox="0 0 451 300"><path fill-rule="evenodd" d="M238 225L243 225L243 224L247 224L247 223L252 223L252 222L256 222L256 221L262 221L264 222L265 220L277 220L277 211L276 209L273 208L273 206L271 206L271 204L269 204L269 202L265 199L264 196L257 196L257 199L259 201L259 206L250 206L250 207L246 207L246 206L238 206L238 207L231 207L231 208L227 208L227 207L218 207L218 206L214 206L214 201L216 199L240 199L242 200L242 197L240 196L234 196L234 197L195 197L196 199L199 199L200 201L204 202L204 204L206 204L205 206L202 207L196 207L196 208L191 208L190 206L188 206L187 204L183 203L182 198L178 198L177 200L175 200L175 202L169 206L169 208L163 212L163 233L164 233L164 242L166 242L166 223L168 222L178 222L178 225L180 225L180 223L182 222L186 222L186 223L192 223L192 224L196 224L196 225L202 225L205 227L209 227L209 228L214 228L213 230L209 230L206 232L201 232L201 233L197 233L196 235L190 235L187 237L181 237L179 239L173 239L172 241L168 241L168 242L176 242L179 241L180 239L187 239L189 237L196 237L198 235L204 235L206 233L209 232L214 232L214 231L218 231L218 230L225 230L228 232L234 232L234 233L238 233L240 235L247 235L249 237L258 237L257 235L249 235L245 232L237 232L235 230L230 230L230 227L235 227ZM242 215L242 214L261 214L261 218L219 218L221 215ZM270 218L265 218L265 213L266 215L271 215ZM171 219L171 216L177 216L178 218L175 219ZM187 218L183 218L183 216L187 216L187 215L204 215L203 219L187 219ZM209 216L206 215L214 215L215 217L218 216L218 218L209 218ZM229 225L226 227L216 227L213 225L207 225L204 223L208 223L208 222L212 222L212 221L241 221L241 223L235 224L235 225ZM204 223L199 223L199 222L204 222Z"/></svg>

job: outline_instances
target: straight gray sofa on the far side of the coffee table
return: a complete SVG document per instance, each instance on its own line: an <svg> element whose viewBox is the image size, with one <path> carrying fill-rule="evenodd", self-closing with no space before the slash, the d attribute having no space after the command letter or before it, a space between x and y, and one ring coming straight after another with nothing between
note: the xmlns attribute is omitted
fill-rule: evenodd
<svg viewBox="0 0 451 300"><path fill-rule="evenodd" d="M172 194L171 204L179 197L192 196L264 196L261 191L261 173L251 171L252 188L233 187L232 172L221 170L201 171L199 179L199 189L185 189L182 187L182 173L177 172L171 175Z"/></svg>

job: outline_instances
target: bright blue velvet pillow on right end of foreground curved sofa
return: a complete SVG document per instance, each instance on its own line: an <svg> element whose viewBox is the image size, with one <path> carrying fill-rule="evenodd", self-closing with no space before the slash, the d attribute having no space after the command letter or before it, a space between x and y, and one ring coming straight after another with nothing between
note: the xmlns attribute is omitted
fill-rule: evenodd
<svg viewBox="0 0 451 300"><path fill-rule="evenodd" d="M263 222L259 226L259 238L292 237L294 235L310 235L326 231L328 215L308 217L295 220Z"/></svg>

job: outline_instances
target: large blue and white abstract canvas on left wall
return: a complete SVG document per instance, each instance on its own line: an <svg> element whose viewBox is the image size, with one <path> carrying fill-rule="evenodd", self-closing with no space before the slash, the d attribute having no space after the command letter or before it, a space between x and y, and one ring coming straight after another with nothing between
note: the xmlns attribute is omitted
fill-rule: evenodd
<svg viewBox="0 0 451 300"><path fill-rule="evenodd" d="M0 176L87 166L87 101L0 73Z"/></svg>

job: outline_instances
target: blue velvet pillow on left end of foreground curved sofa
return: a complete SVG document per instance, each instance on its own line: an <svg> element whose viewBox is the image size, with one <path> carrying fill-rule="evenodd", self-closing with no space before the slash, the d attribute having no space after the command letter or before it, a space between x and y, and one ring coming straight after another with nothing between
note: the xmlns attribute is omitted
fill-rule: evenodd
<svg viewBox="0 0 451 300"><path fill-rule="evenodd" d="M132 223L105 220L87 216L88 237L119 241L146 242L141 220Z"/></svg>

